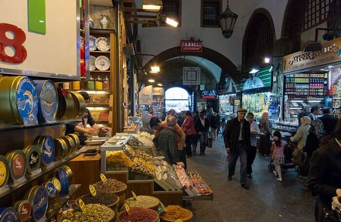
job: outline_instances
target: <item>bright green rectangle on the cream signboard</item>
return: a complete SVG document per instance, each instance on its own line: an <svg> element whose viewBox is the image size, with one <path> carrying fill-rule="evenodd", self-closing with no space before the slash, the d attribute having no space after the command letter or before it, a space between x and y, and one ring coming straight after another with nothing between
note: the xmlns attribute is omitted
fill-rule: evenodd
<svg viewBox="0 0 341 222"><path fill-rule="evenodd" d="M45 0L27 0L28 30L46 34Z"/></svg>

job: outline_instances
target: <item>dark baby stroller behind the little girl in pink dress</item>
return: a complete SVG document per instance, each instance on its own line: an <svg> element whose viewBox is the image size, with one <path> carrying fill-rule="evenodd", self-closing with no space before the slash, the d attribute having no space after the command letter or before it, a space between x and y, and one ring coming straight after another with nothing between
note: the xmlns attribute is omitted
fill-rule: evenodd
<svg viewBox="0 0 341 222"><path fill-rule="evenodd" d="M283 140L286 140L285 138L283 138ZM294 162L293 162L293 157L292 157L292 152L293 152L293 147L294 144L292 142L286 141L288 144L284 147L284 164L281 166L282 169L282 173L285 172L297 172L299 175L301 175L301 170L300 167L297 166ZM273 161L270 158L270 163L269 165L267 165L267 169L268 171L272 172L275 170L275 164L273 164ZM294 170L290 170L289 169L294 169Z"/></svg>

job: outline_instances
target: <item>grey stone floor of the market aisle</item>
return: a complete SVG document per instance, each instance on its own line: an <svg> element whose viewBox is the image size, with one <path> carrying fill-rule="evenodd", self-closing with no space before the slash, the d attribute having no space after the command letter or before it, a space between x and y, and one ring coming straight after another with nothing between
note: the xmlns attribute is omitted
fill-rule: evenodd
<svg viewBox="0 0 341 222"><path fill-rule="evenodd" d="M288 172L278 182L267 170L268 157L257 154L249 190L239 184L239 160L232 181L227 181L227 154L223 140L213 142L205 156L187 159L214 192L213 201L192 201L187 207L193 222L314 222L314 197L303 190L303 180Z"/></svg>

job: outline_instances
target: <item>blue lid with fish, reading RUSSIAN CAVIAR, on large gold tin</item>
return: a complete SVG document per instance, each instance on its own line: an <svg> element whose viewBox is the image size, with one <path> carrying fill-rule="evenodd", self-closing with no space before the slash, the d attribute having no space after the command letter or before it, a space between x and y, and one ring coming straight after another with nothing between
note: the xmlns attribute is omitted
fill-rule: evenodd
<svg viewBox="0 0 341 222"><path fill-rule="evenodd" d="M38 124L38 94L34 82L22 77L17 86L17 107L24 125Z"/></svg>

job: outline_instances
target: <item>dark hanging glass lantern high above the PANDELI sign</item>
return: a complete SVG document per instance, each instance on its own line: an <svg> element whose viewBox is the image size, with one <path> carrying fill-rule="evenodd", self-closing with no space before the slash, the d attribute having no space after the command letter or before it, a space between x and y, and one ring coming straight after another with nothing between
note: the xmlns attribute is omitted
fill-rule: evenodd
<svg viewBox="0 0 341 222"><path fill-rule="evenodd" d="M226 10L219 16L220 28L222 29L222 34L225 38L230 38L232 36L237 18L238 15L230 10L227 0Z"/></svg>

